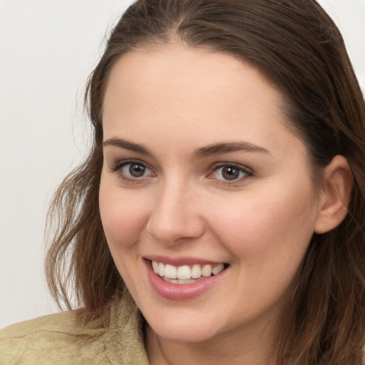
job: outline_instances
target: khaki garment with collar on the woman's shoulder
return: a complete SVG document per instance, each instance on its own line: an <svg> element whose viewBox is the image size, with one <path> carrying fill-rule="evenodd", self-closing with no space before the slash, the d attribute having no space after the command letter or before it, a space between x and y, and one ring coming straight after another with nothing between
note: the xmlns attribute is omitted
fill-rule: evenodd
<svg viewBox="0 0 365 365"><path fill-rule="evenodd" d="M143 322L128 295L110 307L110 326L82 326L80 309L13 324L0 331L1 365L148 365Z"/></svg>

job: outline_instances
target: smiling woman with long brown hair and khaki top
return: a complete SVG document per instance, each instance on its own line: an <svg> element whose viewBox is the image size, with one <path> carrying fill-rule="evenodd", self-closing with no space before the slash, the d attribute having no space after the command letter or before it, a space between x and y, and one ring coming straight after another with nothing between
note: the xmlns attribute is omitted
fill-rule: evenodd
<svg viewBox="0 0 365 365"><path fill-rule="evenodd" d="M363 364L365 103L316 1L136 1L87 96L46 262L83 309L1 360Z"/></svg>

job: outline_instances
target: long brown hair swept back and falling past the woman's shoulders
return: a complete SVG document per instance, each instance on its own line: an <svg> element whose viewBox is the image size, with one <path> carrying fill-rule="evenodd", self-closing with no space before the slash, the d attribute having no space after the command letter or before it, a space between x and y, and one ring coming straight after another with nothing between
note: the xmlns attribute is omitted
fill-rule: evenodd
<svg viewBox="0 0 365 365"><path fill-rule="evenodd" d="M121 55L152 43L211 47L257 66L286 96L284 113L307 145L314 181L334 155L354 175L349 214L312 238L299 282L277 329L277 364L363 364L365 344L365 103L339 30L315 0L138 0L110 34L86 101L93 145L58 188L49 213L48 284L89 318L107 322L123 279L103 234L98 188L103 96Z"/></svg>

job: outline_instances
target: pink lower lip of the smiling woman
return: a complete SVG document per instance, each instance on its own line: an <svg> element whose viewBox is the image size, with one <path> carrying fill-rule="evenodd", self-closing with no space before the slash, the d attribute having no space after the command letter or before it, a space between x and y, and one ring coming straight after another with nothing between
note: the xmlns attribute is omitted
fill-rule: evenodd
<svg viewBox="0 0 365 365"><path fill-rule="evenodd" d="M207 277L207 279L198 280L191 284L173 284L165 282L158 274L153 271L149 260L144 260L147 268L148 279L150 284L161 297L175 301L183 301L199 297L214 287L220 279L224 277L227 269L223 270L217 275Z"/></svg>

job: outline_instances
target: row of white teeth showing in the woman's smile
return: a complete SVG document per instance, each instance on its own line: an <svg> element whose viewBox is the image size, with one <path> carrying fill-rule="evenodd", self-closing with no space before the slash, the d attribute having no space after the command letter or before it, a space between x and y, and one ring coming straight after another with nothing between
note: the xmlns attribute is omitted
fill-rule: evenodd
<svg viewBox="0 0 365 365"><path fill-rule="evenodd" d="M170 264L163 264L162 262L152 261L153 271L164 277L165 281L173 282L174 284L189 284L190 282L195 282L194 279L200 279L205 277L210 277L219 274L224 268L224 264L210 265L205 264L200 267L200 264L188 265L175 267ZM181 281L183 280L183 282Z"/></svg>

